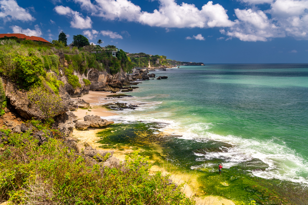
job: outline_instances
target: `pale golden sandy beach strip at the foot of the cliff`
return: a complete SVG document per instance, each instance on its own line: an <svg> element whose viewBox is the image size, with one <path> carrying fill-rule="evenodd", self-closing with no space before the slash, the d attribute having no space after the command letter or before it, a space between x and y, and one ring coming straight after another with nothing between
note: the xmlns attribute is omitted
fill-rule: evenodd
<svg viewBox="0 0 308 205"><path fill-rule="evenodd" d="M79 121L83 121L83 117L86 115L98 115L100 117L108 117L108 116L114 116L118 115L114 111L109 111L106 108L98 105L98 103L108 103L109 100L105 99L107 95L111 95L110 92L103 92L103 91L89 91L89 93L81 99L84 101L90 103L90 109L78 109L74 111L73 113L77 116L77 119ZM71 99L78 99L78 98L71 98ZM88 111L91 110L91 111ZM87 130L77 130L73 129L72 137L76 138L79 140L79 143L88 143L90 146L92 146L94 149L97 150L105 150L105 151L114 151L113 156L116 158L120 159L120 161L125 160L125 156L127 154L132 153L134 150L134 147L126 147L124 150L116 150L116 149L111 149L111 148L100 148L101 146L100 143L97 141L100 140L100 137L97 136L97 133L100 131L103 131L108 128L102 128L102 129L97 129L97 128L88 128ZM142 151L142 150L141 150ZM151 162L151 160L150 160ZM180 184L184 183L184 188L182 188L183 193L191 198L194 197L196 200L197 204L211 204L211 205L235 205L233 201L229 199L225 199L221 196L205 196L205 195L200 195L199 196L199 191L198 187L199 184L197 183L197 175L193 176L193 178L190 178L188 174L181 173L180 171L175 171L173 173L168 172L168 168L164 168L164 166L157 166L154 165L152 168L149 170L151 174L154 174L157 171L162 172L163 175L171 174L171 179L174 183Z"/></svg>

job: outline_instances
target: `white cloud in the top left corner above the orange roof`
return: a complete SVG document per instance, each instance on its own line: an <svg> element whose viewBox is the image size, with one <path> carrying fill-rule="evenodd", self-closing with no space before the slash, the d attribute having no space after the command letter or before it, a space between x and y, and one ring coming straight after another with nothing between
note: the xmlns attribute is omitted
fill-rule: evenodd
<svg viewBox="0 0 308 205"><path fill-rule="evenodd" d="M1 0L0 1L0 18L5 21L21 20L34 21L35 18L29 14L29 11L18 6L15 0Z"/></svg>

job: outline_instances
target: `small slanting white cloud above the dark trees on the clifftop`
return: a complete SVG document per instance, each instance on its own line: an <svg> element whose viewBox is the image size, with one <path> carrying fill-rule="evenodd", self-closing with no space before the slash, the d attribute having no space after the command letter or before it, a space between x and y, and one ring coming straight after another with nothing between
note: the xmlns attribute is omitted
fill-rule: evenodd
<svg viewBox="0 0 308 205"><path fill-rule="evenodd" d="M90 17L84 18L82 14L78 11L72 10L70 7L66 6L56 6L55 11L60 15L65 15L72 19L71 27L72 28L80 28L80 29L87 29L92 28L92 20Z"/></svg>

